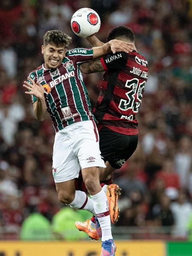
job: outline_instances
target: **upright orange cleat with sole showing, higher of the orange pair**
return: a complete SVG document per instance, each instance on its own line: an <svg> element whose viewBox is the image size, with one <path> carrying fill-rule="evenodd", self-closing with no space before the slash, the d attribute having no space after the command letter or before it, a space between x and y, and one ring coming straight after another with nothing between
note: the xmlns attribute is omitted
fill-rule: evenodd
<svg viewBox="0 0 192 256"><path fill-rule="evenodd" d="M112 223L116 223L119 218L119 208L117 205L118 196L121 195L120 188L116 184L110 184L107 188L107 198L109 203L109 212Z"/></svg>

